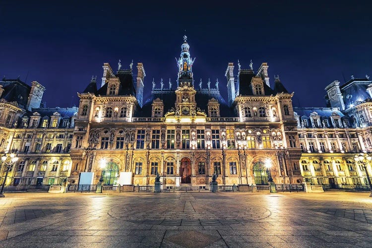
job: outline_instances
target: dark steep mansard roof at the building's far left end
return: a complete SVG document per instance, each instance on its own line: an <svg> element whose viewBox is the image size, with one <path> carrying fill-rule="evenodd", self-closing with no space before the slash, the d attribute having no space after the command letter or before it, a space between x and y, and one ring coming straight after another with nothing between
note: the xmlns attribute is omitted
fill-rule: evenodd
<svg viewBox="0 0 372 248"><path fill-rule="evenodd" d="M28 96L31 91L30 85L27 85L19 78L3 78L2 81L0 81L0 85L3 88L1 94L2 99L5 99L7 102L17 102L20 108L26 109Z"/></svg>

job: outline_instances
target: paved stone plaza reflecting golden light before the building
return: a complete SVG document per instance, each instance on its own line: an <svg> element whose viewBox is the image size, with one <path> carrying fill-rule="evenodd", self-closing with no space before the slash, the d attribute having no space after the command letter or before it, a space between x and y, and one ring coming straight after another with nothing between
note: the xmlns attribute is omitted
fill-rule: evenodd
<svg viewBox="0 0 372 248"><path fill-rule="evenodd" d="M0 247L372 247L369 193L6 193Z"/></svg>

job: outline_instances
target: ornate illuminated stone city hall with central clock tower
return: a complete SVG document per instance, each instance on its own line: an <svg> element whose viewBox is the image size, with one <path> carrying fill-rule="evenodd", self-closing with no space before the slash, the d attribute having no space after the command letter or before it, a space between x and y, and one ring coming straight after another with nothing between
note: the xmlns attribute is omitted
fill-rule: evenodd
<svg viewBox="0 0 372 248"><path fill-rule="evenodd" d="M271 178L368 185L371 165L355 159L372 151L368 75L331 82L327 107L296 108L294 93L279 76L270 80L266 62L257 69L229 62L221 82L195 81L193 62L184 36L175 80L145 80L141 62L119 62L116 72L103 63L102 81L93 77L77 89L78 108L46 108L42 84L3 78L0 152L18 160L9 169L1 162L0 183L7 173L5 186L15 187L95 185L101 176L105 186L153 186L159 174L164 189L204 189L216 173L225 186L268 185Z"/></svg>

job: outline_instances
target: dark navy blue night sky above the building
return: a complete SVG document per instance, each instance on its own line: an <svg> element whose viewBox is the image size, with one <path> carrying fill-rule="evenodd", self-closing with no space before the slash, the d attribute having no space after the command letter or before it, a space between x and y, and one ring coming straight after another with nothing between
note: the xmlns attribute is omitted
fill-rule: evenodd
<svg viewBox="0 0 372 248"><path fill-rule="evenodd" d="M226 100L225 70L234 62L237 74L238 59L255 71L268 62L271 85L279 74L301 107L325 107L333 80L372 76L371 1L78 2L0 3L0 76L38 81L47 107L77 105L76 92L92 75L100 83L104 62L116 72L119 59L144 64L147 96L153 77L157 88L161 77L175 85L184 34L195 85L218 78Z"/></svg>

